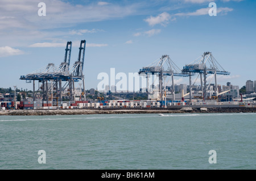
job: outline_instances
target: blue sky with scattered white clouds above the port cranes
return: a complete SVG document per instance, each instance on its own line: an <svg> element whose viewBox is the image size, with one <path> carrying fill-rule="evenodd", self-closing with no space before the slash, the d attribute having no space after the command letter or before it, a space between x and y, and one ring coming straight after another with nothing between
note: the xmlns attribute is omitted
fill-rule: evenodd
<svg viewBox="0 0 256 181"><path fill-rule="evenodd" d="M39 2L46 16L38 16ZM217 16L209 16L210 2ZM0 87L32 89L19 80L46 66L59 65L72 41L71 64L86 40L85 88L96 89L101 72L135 73L168 54L179 68L206 51L230 75L218 83L243 86L256 80L256 1L59 1L0 0ZM193 79L195 79L193 77ZM188 78L175 77L188 83Z"/></svg>

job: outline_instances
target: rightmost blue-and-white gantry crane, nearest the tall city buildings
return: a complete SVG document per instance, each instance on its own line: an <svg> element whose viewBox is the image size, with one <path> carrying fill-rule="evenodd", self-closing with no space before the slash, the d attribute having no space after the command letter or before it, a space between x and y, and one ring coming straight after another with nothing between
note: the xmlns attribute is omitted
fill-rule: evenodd
<svg viewBox="0 0 256 181"><path fill-rule="evenodd" d="M216 96L218 95L217 89L217 74L229 75L230 72L224 70L222 66L213 57L211 52L204 52L195 61L187 64L183 67L182 72L189 75L189 99L192 102L192 86L191 76L199 73L201 79L201 91L203 93L203 99L206 99L207 90L210 83L207 85L207 74L213 74L215 78L214 91ZM203 78L204 75L204 78ZM213 77L212 77L213 78Z"/></svg>

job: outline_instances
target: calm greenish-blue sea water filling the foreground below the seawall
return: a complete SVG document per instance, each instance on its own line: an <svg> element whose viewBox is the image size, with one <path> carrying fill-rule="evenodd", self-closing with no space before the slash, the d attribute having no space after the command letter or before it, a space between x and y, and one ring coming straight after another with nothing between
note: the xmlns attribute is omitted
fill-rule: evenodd
<svg viewBox="0 0 256 181"><path fill-rule="evenodd" d="M256 113L0 116L0 169L256 169L255 133Z"/></svg>

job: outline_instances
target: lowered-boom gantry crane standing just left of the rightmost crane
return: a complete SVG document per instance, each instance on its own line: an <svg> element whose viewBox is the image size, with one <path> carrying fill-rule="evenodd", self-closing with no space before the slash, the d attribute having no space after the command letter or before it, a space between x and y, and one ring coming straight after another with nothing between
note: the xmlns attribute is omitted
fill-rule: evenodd
<svg viewBox="0 0 256 181"><path fill-rule="evenodd" d="M179 67L174 63L174 61L171 60L171 58L168 55L163 55L162 57L152 62L150 65L143 67L142 69L139 70L138 74L147 75L147 88L148 88L148 75L156 74L159 76L160 100L163 100L163 77L164 76L171 76L172 78L172 93L174 95L174 100L175 100L174 76L188 77L187 74L184 74L181 72Z"/></svg>

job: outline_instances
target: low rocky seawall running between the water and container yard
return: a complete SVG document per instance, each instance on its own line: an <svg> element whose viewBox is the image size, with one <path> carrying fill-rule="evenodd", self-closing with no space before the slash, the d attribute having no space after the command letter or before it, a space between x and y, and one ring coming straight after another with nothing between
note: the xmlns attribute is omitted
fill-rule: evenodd
<svg viewBox="0 0 256 181"><path fill-rule="evenodd" d="M256 108L225 107L225 108L162 108L162 109L119 109L119 110L7 110L0 111L0 116L41 116L41 115L93 115L123 113L239 113L256 112Z"/></svg>

